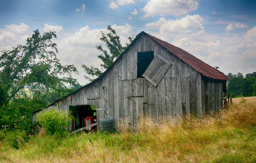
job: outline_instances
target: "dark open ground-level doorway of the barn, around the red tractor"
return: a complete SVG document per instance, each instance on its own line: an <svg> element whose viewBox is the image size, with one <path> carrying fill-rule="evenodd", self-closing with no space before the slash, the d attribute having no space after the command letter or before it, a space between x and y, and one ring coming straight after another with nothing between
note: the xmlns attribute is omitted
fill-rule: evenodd
<svg viewBox="0 0 256 163"><path fill-rule="evenodd" d="M88 116L96 115L96 105L77 105L69 106L71 115L74 119L71 122L69 131L74 131L79 128L85 127L85 118Z"/></svg>

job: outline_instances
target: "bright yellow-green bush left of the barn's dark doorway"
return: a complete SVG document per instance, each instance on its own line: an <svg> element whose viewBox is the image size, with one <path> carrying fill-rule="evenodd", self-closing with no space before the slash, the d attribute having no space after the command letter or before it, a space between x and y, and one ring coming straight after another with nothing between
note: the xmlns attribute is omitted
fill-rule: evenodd
<svg viewBox="0 0 256 163"><path fill-rule="evenodd" d="M43 110L38 114L38 122L46 129L48 135L65 136L72 118L71 113L65 113L55 108L47 111Z"/></svg>

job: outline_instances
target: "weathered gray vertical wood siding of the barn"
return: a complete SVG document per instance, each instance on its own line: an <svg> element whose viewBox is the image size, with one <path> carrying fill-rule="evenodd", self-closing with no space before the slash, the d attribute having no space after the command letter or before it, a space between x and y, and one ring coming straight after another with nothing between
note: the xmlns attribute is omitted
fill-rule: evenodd
<svg viewBox="0 0 256 163"><path fill-rule="evenodd" d="M148 51L154 51L154 55L159 54L171 63L156 87L146 79L137 79L138 52ZM129 117L131 126L135 127L141 115L181 116L217 111L222 108L224 83L225 80L205 77L143 35L97 83L89 84L55 104L63 111L68 111L70 105L97 105L97 109L103 109L97 111L97 128L100 128L105 108L106 117L113 117L114 122ZM33 121L36 115L33 115Z"/></svg>

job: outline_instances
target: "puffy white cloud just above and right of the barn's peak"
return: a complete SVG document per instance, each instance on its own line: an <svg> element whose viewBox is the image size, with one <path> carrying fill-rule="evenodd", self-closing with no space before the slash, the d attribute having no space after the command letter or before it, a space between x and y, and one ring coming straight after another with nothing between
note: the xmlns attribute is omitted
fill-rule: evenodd
<svg viewBox="0 0 256 163"><path fill-rule="evenodd" d="M187 15L184 18L173 20L160 18L156 22L147 23L147 28L159 29L161 35L170 35L171 33L204 33L204 27L201 24L203 18L199 15Z"/></svg>

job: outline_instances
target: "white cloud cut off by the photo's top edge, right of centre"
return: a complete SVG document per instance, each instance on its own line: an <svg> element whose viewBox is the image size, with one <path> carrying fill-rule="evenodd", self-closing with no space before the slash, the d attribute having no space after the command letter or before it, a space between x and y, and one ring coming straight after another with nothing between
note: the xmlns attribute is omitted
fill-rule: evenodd
<svg viewBox="0 0 256 163"><path fill-rule="evenodd" d="M198 6L197 0L150 0L142 10L146 12L145 17L154 15L181 16L195 11Z"/></svg>

